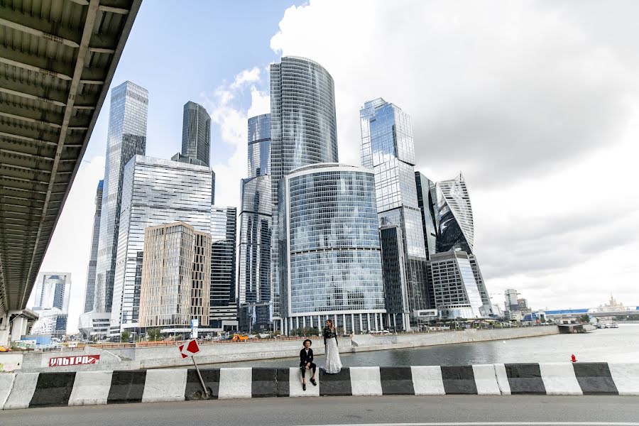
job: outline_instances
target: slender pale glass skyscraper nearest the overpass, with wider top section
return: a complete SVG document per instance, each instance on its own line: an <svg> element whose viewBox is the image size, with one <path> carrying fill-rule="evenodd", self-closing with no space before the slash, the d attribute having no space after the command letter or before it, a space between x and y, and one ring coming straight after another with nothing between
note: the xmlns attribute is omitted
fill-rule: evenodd
<svg viewBox="0 0 639 426"><path fill-rule="evenodd" d="M131 82L111 89L102 215L95 271L95 312L111 312L118 251L122 178L133 155L146 151L148 91Z"/></svg>

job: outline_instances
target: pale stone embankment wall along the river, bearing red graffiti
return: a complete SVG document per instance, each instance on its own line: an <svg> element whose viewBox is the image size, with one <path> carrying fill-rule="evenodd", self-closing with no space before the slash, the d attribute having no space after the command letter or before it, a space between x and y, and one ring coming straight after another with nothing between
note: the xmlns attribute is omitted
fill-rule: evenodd
<svg viewBox="0 0 639 426"><path fill-rule="evenodd" d="M459 332L432 332L415 334L356 334L353 337L339 338L341 353L380 351L419 346L455 344L468 342L486 342L490 340L517 339L558 334L556 326L522 327L512 329L467 329ZM312 339L316 355L324 354L322 339ZM263 359L293 358L299 355L300 340L267 340L239 342L229 344L202 344L197 354L198 364L217 364L234 361L259 361ZM100 349L99 346L86 346L82 350L60 352L27 352L13 356L15 368L25 372L35 371L101 371L101 370L139 370L148 368L170 368L190 366L190 359L182 359L175 346L136 347L124 349ZM59 356L99 355L99 364L49 367L49 360ZM3 362L0 354L0 364ZM18 365L19 364L19 365Z"/></svg>

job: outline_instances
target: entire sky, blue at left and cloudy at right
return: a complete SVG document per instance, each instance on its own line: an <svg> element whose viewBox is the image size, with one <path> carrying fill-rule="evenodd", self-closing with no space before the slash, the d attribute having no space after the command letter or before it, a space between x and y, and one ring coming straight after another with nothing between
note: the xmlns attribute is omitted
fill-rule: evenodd
<svg viewBox="0 0 639 426"><path fill-rule="evenodd" d="M411 117L420 170L463 171L488 293L535 308L639 305L639 3L636 1L170 1L143 4L114 85L149 90L147 154L180 149L182 105L207 107L219 205L239 204L246 119L269 111L283 55L333 76L339 159L359 163L359 109L383 97ZM109 102L43 271L84 296Z"/></svg>

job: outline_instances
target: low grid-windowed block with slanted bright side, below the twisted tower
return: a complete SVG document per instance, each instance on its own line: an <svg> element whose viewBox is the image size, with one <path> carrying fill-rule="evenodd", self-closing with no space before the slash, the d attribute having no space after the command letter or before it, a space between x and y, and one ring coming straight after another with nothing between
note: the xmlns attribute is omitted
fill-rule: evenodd
<svg viewBox="0 0 639 426"><path fill-rule="evenodd" d="M479 318L483 302L468 254L447 251L430 256L435 304L443 318Z"/></svg>

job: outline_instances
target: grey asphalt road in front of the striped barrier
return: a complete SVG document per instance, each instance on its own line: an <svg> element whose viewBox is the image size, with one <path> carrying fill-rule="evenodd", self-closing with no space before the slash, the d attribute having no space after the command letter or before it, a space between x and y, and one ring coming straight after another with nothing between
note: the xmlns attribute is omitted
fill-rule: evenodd
<svg viewBox="0 0 639 426"><path fill-rule="evenodd" d="M632 396L259 398L0 411L2 426L636 425Z"/></svg>

